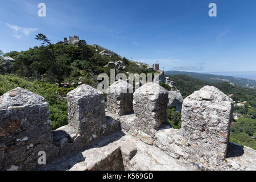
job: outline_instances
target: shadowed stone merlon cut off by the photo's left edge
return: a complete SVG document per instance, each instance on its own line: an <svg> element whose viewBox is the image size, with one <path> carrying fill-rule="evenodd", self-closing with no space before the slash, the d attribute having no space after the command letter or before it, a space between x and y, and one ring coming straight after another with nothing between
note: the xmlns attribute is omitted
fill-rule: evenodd
<svg viewBox="0 0 256 182"><path fill-rule="evenodd" d="M0 97L0 170L38 167L38 152L47 160L57 153L52 146L52 123L46 100L23 88Z"/></svg>

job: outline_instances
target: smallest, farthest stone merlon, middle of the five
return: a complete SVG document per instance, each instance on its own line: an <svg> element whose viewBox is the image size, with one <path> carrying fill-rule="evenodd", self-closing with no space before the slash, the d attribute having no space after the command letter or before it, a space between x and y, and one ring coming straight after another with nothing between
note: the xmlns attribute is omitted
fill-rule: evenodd
<svg viewBox="0 0 256 182"><path fill-rule="evenodd" d="M122 116L133 111L133 86L126 81L114 82L109 86L107 94L107 108L110 113Z"/></svg>

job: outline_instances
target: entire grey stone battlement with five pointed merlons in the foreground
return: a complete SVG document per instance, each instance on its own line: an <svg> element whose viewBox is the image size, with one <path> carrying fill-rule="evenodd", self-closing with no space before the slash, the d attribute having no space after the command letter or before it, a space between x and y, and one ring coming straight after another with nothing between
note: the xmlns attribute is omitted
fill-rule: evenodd
<svg viewBox="0 0 256 182"><path fill-rule="evenodd" d="M129 89L114 82L105 109L102 92L80 85L67 96L69 124L54 131L43 97L22 88L5 93L0 170L256 170L256 151L229 143L233 102L217 88L184 99L179 130L167 122L174 94L154 82Z"/></svg>

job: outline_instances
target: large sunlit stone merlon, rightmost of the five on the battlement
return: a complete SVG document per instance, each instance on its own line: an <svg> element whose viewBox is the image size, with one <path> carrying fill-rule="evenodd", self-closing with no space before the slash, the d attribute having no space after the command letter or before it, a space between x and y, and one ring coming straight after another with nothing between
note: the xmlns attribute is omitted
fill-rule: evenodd
<svg viewBox="0 0 256 182"><path fill-rule="evenodd" d="M189 156L205 166L219 166L229 143L233 101L214 86L185 98L181 131Z"/></svg>

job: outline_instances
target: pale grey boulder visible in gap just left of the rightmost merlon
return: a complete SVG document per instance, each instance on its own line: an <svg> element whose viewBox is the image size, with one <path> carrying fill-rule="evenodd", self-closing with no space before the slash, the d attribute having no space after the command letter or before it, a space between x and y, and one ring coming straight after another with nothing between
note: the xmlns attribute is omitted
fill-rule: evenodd
<svg viewBox="0 0 256 182"><path fill-rule="evenodd" d="M183 97L181 96L180 92L178 91L169 91L168 93L168 107L176 107L176 111L181 112L182 104L183 104Z"/></svg>

